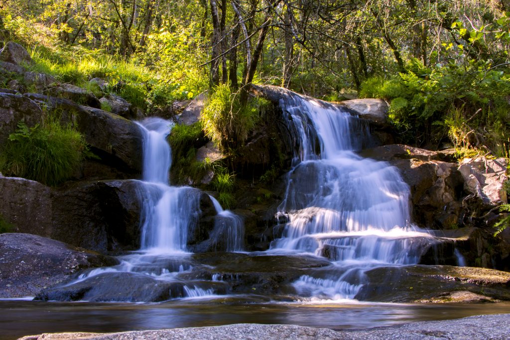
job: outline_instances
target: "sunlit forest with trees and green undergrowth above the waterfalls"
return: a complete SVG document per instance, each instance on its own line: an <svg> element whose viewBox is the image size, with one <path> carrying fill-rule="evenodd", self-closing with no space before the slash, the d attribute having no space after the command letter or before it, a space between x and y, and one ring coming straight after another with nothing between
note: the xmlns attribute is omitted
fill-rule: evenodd
<svg viewBox="0 0 510 340"><path fill-rule="evenodd" d="M31 68L121 83L146 111L208 88L244 107L251 84L377 97L403 143L508 157L505 0L8 0L0 16L4 43L27 47Z"/></svg>

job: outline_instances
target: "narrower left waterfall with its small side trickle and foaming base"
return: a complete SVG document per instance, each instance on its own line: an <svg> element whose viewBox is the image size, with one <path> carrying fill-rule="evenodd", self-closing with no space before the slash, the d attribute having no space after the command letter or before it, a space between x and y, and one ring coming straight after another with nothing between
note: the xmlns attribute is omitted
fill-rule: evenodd
<svg viewBox="0 0 510 340"><path fill-rule="evenodd" d="M146 118L136 123L143 137L143 180L138 181L141 249L118 257L120 264L117 266L90 270L67 285L108 273L134 273L156 280L184 282L177 275L192 270L187 238L188 231L198 224L200 191L170 186L172 159L166 137L173 123L161 118ZM224 211L217 200L211 199L218 215L211 240L221 241L225 251L242 250L243 221L232 212ZM122 285L122 282L112 284ZM188 298L214 295L213 288L203 289L193 281L185 283L183 290Z"/></svg>

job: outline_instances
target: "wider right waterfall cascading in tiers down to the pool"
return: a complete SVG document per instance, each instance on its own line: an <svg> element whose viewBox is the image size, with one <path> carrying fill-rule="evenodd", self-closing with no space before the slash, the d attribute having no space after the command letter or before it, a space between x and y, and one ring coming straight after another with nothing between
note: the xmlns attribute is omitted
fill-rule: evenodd
<svg viewBox="0 0 510 340"><path fill-rule="evenodd" d="M295 135L294 167L277 216L287 222L270 252L308 252L333 260L321 277L303 275L300 295L353 298L376 266L416 264L430 234L411 223L410 190L396 168L363 159L362 121L337 107L294 94L281 99ZM352 132L361 135L355 136Z"/></svg>

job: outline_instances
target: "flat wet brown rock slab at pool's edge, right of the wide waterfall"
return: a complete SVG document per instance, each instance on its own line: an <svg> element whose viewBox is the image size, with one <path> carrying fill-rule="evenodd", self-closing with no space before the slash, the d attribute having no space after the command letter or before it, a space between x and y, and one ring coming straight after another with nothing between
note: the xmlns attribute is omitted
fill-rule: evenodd
<svg viewBox="0 0 510 340"><path fill-rule="evenodd" d="M491 300L510 300L510 273L492 269L451 266L375 268L365 272L369 283L355 296L382 302L448 302L455 292L484 295ZM453 295L457 300L461 297ZM468 301L472 301L471 295Z"/></svg>

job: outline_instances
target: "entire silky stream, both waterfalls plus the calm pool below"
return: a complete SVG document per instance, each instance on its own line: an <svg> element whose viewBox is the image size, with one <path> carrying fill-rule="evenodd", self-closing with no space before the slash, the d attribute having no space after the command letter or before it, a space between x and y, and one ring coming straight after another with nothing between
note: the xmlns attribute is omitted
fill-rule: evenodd
<svg viewBox="0 0 510 340"><path fill-rule="evenodd" d="M295 155L275 219L283 232L269 250L243 252L243 221L208 196L217 213L210 241L226 251L189 251L189 233L207 194L169 185L171 122L149 118L138 123L144 145L143 179L137 181L141 249L46 295L84 302L0 301L6 330L0 338L242 322L366 328L508 308L363 302L382 301L364 298L367 273L419 263L436 238L413 225L410 189L398 171L355 153L370 139L359 118L297 94L280 106Z"/></svg>

